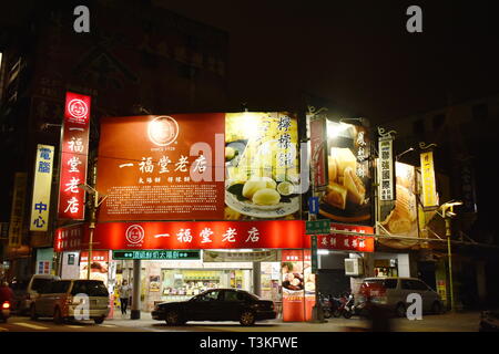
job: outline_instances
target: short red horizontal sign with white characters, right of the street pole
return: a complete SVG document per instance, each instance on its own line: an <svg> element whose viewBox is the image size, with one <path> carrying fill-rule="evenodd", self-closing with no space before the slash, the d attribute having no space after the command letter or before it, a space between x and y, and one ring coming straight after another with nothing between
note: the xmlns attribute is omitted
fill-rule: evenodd
<svg viewBox="0 0 499 354"><path fill-rule="evenodd" d="M350 225L339 225L332 223L332 232L327 236L319 236L317 238L319 249L330 249L330 250L344 250L344 251L356 251L356 252L374 252L375 239L371 236L355 236L355 235L344 235L335 233L335 230L350 231L358 233L374 233L374 228L366 226L350 226Z"/></svg>

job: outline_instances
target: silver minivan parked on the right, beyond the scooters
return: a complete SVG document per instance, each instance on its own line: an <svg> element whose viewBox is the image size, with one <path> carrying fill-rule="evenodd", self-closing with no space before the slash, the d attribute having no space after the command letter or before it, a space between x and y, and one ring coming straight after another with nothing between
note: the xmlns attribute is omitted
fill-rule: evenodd
<svg viewBox="0 0 499 354"><path fill-rule="evenodd" d="M438 293L417 278L366 278L360 285L359 302L367 298L375 304L394 310L399 317L406 316L407 296L418 293L422 300L422 313L441 313L444 304Z"/></svg>

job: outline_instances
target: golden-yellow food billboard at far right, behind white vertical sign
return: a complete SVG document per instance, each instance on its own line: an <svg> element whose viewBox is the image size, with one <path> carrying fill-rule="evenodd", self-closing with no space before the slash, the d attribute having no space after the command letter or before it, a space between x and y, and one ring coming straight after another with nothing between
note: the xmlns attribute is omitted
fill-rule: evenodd
<svg viewBox="0 0 499 354"><path fill-rule="evenodd" d="M383 228L380 233L394 236L418 237L418 205L416 198L416 173L415 167L407 164L396 163L396 200L395 208L380 221ZM385 240L379 242L395 248L407 248L417 243L409 240Z"/></svg>

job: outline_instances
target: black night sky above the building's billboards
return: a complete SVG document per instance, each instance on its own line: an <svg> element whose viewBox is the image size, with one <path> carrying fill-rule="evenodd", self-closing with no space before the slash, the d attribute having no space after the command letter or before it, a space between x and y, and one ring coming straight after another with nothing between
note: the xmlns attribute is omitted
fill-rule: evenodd
<svg viewBox="0 0 499 354"><path fill-rule="evenodd" d="M230 96L248 107L306 91L385 121L499 91L487 1L166 1L230 33ZM406 10L422 9L422 33Z"/></svg>

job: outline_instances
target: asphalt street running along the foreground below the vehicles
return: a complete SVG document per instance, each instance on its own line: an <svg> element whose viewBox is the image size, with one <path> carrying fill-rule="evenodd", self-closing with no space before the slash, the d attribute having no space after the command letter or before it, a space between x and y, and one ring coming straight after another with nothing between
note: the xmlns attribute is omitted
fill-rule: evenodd
<svg viewBox="0 0 499 354"><path fill-rule="evenodd" d="M393 319L394 332L477 332L478 312L445 313L425 315L422 320ZM142 313L140 320L130 320L121 314L108 319L103 324L93 321L73 321L55 324L51 319L31 321L27 316L12 316L8 323L0 323L3 332L355 332L366 331L369 323L363 319L328 319L324 323L283 322L282 320L258 322L244 327L237 322L189 322L182 326L169 326L164 321L154 321L150 313Z"/></svg>

